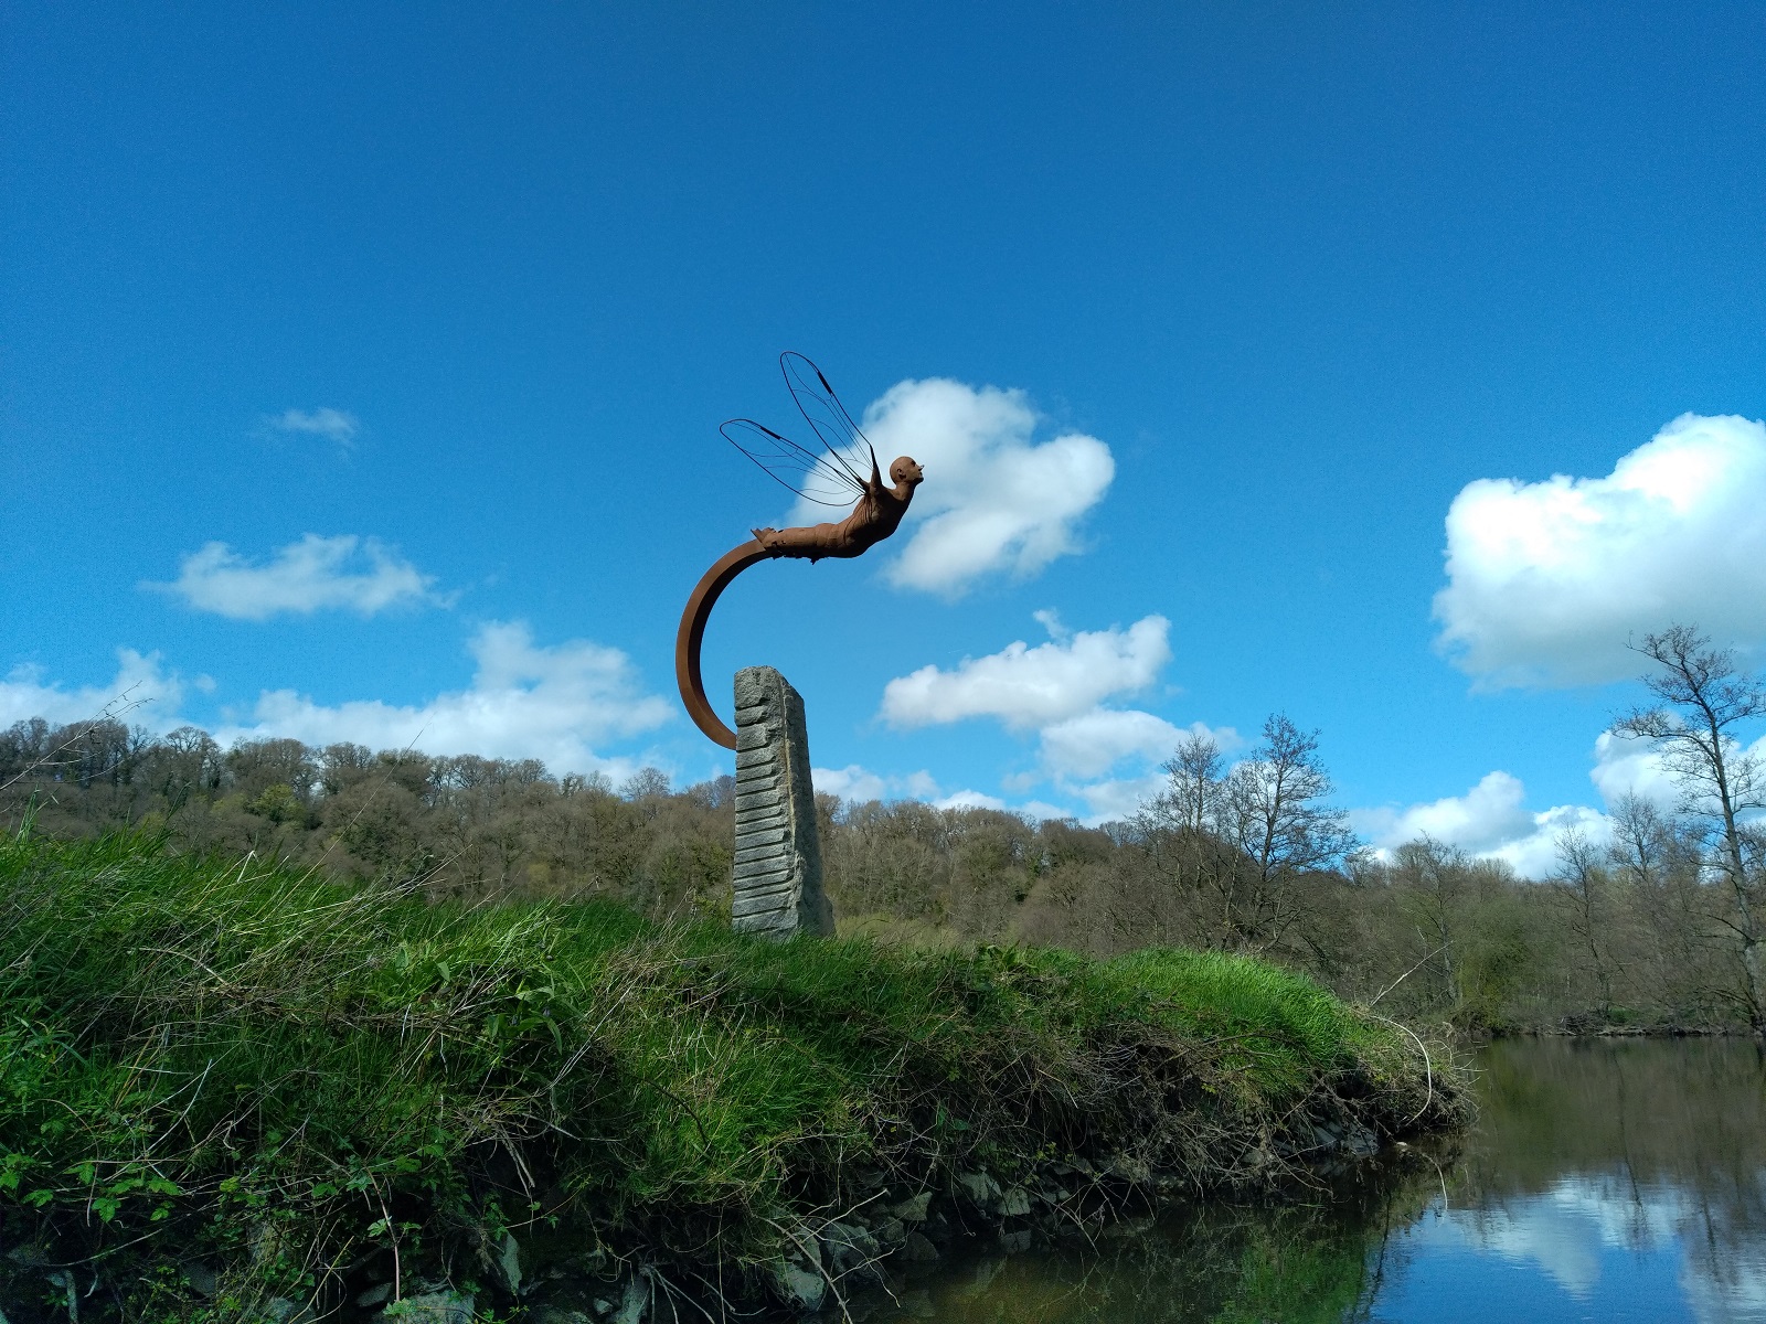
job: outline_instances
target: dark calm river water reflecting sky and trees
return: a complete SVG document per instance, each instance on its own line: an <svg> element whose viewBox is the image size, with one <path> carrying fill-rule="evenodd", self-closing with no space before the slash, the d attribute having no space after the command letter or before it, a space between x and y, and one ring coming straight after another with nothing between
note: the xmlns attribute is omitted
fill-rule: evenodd
<svg viewBox="0 0 1766 1324"><path fill-rule="evenodd" d="M1480 1068L1476 1128L1420 1169L1307 1207L1123 1227L1097 1248L978 1253L871 1319L1766 1320L1752 1042L1521 1040Z"/></svg>

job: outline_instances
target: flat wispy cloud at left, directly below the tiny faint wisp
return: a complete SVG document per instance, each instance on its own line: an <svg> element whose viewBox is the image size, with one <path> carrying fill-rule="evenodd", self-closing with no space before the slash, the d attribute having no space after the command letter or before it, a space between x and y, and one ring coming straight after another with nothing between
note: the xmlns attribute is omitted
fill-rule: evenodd
<svg viewBox="0 0 1766 1324"><path fill-rule="evenodd" d="M445 606L433 584L433 575L378 538L307 533L258 563L224 542L210 542L184 558L173 583L143 588L175 593L196 611L261 621L339 607L373 616L396 606Z"/></svg>

